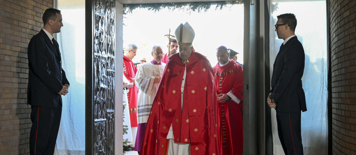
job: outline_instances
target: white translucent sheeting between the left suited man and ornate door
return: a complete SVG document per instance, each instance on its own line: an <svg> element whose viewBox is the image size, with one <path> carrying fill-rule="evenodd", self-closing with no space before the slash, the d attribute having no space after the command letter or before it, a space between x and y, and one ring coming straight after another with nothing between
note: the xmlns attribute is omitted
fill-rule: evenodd
<svg viewBox="0 0 356 155"><path fill-rule="evenodd" d="M85 0L58 0L63 27L57 34L62 68L70 83L62 97L62 119L57 138L58 155L85 154Z"/></svg>

